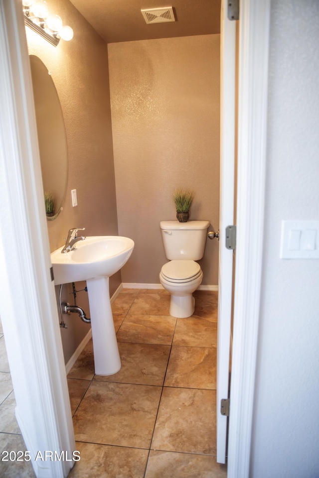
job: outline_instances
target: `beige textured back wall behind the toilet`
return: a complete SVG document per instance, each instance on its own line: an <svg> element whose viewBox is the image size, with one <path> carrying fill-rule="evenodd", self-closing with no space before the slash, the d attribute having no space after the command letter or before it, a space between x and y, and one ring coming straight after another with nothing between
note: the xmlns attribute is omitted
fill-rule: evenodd
<svg viewBox="0 0 319 478"><path fill-rule="evenodd" d="M220 35L108 45L119 234L135 241L123 282L159 283L160 221L175 187L195 192L190 219L219 226ZM202 284L218 284L207 240Z"/></svg>

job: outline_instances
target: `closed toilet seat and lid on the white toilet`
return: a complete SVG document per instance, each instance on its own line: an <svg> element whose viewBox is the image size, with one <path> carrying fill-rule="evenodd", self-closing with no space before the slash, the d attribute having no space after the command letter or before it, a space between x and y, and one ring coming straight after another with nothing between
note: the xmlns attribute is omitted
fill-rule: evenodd
<svg viewBox="0 0 319 478"><path fill-rule="evenodd" d="M162 266L160 273L165 280L180 284L197 279L202 272L194 260L171 260Z"/></svg>

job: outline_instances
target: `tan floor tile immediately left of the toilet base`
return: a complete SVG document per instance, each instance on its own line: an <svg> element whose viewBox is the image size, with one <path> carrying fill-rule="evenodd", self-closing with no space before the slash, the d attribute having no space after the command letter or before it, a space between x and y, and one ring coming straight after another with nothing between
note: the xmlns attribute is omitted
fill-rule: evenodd
<svg viewBox="0 0 319 478"><path fill-rule="evenodd" d="M170 297L162 292L140 292L134 300L130 314L169 315Z"/></svg>

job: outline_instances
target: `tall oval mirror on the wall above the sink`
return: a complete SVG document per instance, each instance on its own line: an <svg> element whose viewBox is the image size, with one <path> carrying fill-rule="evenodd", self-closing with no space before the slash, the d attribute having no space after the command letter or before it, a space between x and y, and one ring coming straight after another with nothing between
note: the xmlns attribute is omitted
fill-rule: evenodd
<svg viewBox="0 0 319 478"><path fill-rule="evenodd" d="M30 55L36 125L48 221L63 209L68 173L64 119L57 91L44 63Z"/></svg>

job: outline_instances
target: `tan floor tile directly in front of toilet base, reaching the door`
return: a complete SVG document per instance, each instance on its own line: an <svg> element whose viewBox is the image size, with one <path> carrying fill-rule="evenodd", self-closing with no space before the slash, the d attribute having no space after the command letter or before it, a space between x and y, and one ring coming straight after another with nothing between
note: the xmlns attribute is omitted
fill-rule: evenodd
<svg viewBox="0 0 319 478"><path fill-rule="evenodd" d="M205 319L177 319L173 345L217 347L217 323Z"/></svg>

